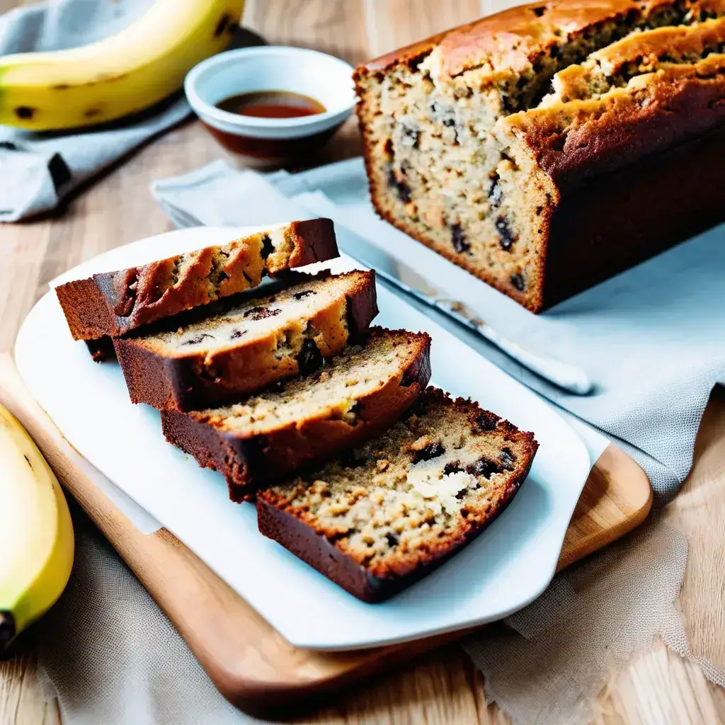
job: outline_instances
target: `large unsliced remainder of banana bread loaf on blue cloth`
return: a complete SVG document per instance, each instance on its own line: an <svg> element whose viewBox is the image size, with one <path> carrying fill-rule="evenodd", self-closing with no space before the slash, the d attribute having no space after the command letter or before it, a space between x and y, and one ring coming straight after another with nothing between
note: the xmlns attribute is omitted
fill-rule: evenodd
<svg viewBox="0 0 725 725"><path fill-rule="evenodd" d="M725 220L725 0L552 0L356 71L381 217L534 312Z"/></svg>

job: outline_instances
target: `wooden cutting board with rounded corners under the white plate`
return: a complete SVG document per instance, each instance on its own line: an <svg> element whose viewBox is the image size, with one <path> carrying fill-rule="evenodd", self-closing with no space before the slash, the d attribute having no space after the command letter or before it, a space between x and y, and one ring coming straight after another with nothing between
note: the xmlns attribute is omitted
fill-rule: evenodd
<svg viewBox="0 0 725 725"><path fill-rule="evenodd" d="M0 402L27 428L67 492L133 569L212 682L236 705L247 710L289 705L465 634L347 653L293 647L173 534L159 529L144 535L120 512L89 478L90 464L30 396L7 354L0 355ZM634 529L651 505L645 472L610 444L589 474L571 518L559 570Z"/></svg>

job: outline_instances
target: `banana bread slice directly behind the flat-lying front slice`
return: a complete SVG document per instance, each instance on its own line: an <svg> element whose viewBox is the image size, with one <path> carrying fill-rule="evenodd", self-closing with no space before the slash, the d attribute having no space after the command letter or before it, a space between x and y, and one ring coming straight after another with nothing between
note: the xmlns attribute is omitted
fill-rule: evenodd
<svg viewBox="0 0 725 725"><path fill-rule="evenodd" d="M325 460L378 434L421 394L431 377L425 333L372 328L323 368L229 405L192 413L162 411L167 441L219 471L229 497L303 463ZM252 485L254 484L254 485Z"/></svg>

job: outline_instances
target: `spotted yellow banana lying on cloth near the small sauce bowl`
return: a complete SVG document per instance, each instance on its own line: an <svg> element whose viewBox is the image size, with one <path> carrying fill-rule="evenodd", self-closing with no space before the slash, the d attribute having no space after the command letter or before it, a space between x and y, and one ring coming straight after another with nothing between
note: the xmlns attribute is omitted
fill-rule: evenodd
<svg viewBox="0 0 725 725"><path fill-rule="evenodd" d="M152 106L225 48L243 9L244 0L157 0L99 43L0 57L0 123L78 128Z"/></svg>

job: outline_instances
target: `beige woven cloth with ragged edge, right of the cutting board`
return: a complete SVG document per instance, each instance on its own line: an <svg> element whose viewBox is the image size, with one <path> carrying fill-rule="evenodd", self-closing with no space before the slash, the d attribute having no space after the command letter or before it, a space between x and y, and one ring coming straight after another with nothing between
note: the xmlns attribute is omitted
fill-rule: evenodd
<svg viewBox="0 0 725 725"><path fill-rule="evenodd" d="M473 634L463 647L484 674L489 702L515 725L590 723L610 667L650 650L655 637L725 687L725 671L692 657L675 608L686 563L687 537L655 516L566 569L533 604L507 618L508 626ZM681 722L665 703L648 704L660 708L651 722Z"/></svg>

